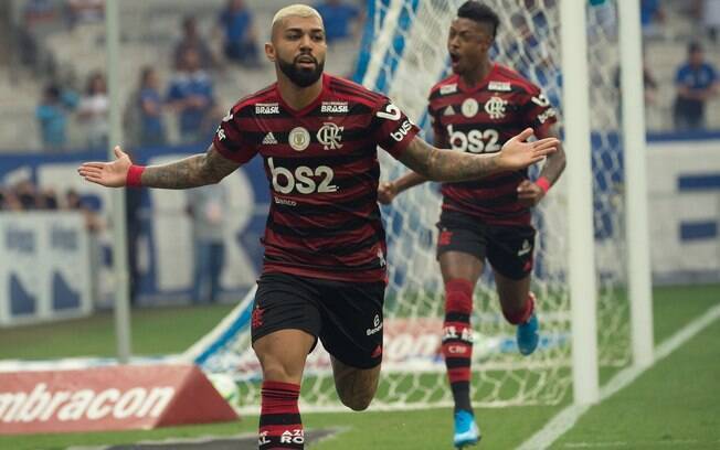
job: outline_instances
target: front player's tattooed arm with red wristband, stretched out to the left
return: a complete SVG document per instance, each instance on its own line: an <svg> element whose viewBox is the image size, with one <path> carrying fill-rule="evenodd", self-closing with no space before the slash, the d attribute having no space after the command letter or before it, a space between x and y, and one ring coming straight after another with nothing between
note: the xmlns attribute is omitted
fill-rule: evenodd
<svg viewBox="0 0 720 450"><path fill-rule="evenodd" d="M133 167L130 158L119 147L115 147L113 162L86 162L77 172L85 180L108 188L123 188L130 178L131 184L161 189L188 189L220 182L241 164L220 154L213 144L202 154L194 154L178 161L147 168ZM133 167L133 170L130 170Z"/></svg>

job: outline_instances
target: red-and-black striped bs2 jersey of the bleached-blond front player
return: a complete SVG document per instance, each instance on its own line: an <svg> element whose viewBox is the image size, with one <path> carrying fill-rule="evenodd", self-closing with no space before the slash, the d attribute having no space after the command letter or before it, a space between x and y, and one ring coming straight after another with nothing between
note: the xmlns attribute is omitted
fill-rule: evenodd
<svg viewBox="0 0 720 450"><path fill-rule="evenodd" d="M330 75L301 110L276 85L235 104L213 144L241 163L264 159L272 204L263 271L384 280L378 146L398 158L417 131L388 97Z"/></svg>

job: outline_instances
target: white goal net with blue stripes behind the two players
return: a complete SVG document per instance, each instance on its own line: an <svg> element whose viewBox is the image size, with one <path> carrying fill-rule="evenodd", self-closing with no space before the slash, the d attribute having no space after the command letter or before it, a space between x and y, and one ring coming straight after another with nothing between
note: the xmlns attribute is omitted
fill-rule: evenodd
<svg viewBox="0 0 720 450"><path fill-rule="evenodd" d="M494 58L540 85L560 110L559 1L488 0L500 15ZM617 49L614 0L589 4L595 254L599 280L601 367L629 361L625 294L622 153L618 137ZM370 0L357 81L388 94L430 139L425 115L433 84L447 75L447 30L462 1ZM568 158L573 149L565 149ZM404 167L381 152L384 179ZM445 365L440 353L443 283L435 260L441 196L425 183L383 207L389 239L390 285L385 299L384 360L373 408L449 406ZM475 292L472 319L476 334L473 401L481 406L557 404L570 394L571 323L568 279L568 207L564 183L553 188L534 215L539 231L532 289L538 297L541 342L530 357L519 355L515 328L499 309L491 277ZM260 368L250 346L252 292L225 322L188 352L205 371L231 373L241 385L241 409L260 405ZM327 354L310 355L301 408L340 408Z"/></svg>

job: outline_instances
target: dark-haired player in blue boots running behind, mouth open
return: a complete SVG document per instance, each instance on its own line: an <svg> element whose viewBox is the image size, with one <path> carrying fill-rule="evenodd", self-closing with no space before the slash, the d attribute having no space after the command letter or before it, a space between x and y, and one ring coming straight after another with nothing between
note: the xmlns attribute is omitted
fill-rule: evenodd
<svg viewBox="0 0 720 450"><path fill-rule="evenodd" d="M538 138L558 136L555 111L540 89L517 72L490 61L488 53L498 23L495 12L477 1L467 1L457 10L447 40L454 74L430 93L436 147L489 157L528 127ZM487 258L502 313L508 322L518 325L519 351L531 354L539 334L534 297L529 290L536 235L530 210L564 167L565 156L559 147L534 182L528 180L526 169L519 169L442 186L443 208L437 224L437 259L445 283L442 351L455 400L456 447L480 439L469 394L473 290ZM426 180L422 172L411 172L382 183L379 200L390 203L399 193Z"/></svg>

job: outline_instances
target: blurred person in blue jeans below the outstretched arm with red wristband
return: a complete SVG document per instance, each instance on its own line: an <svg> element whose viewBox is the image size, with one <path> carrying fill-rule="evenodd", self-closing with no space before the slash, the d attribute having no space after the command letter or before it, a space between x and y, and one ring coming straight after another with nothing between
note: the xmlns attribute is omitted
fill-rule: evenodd
<svg viewBox="0 0 720 450"><path fill-rule="evenodd" d="M225 258L226 203L226 192L222 184L209 184L188 191L188 214L192 218L194 238L194 303L218 301Z"/></svg>

